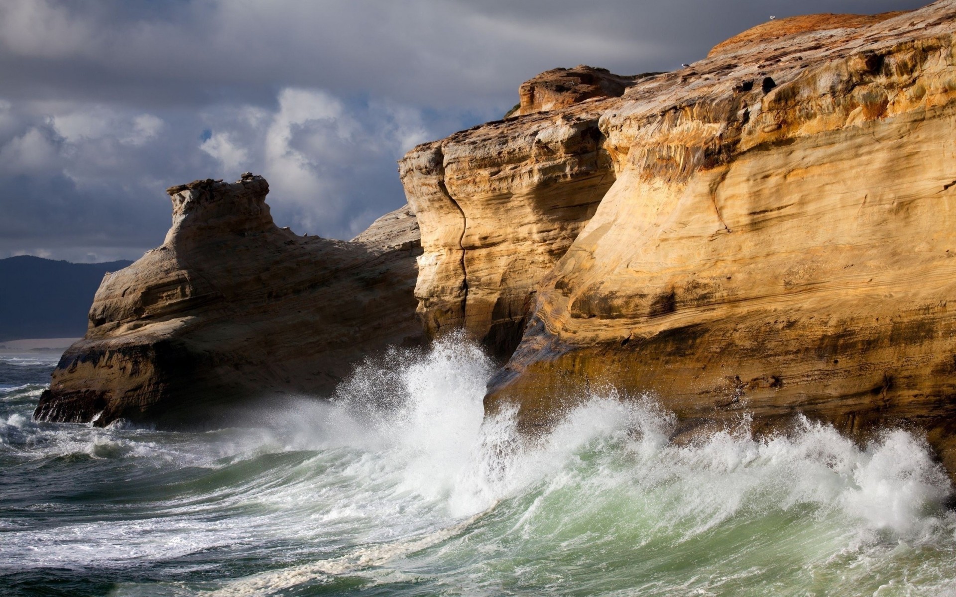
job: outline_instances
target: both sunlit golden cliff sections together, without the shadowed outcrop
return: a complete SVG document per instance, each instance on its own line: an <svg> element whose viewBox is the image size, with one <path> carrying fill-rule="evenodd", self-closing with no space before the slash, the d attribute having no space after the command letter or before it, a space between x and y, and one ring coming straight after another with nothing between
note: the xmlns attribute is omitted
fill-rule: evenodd
<svg viewBox="0 0 956 597"><path fill-rule="evenodd" d="M487 341L530 313L486 398L526 429L613 384L688 433L922 429L956 470L954 17L782 19L618 98L417 148L428 331Z"/></svg>

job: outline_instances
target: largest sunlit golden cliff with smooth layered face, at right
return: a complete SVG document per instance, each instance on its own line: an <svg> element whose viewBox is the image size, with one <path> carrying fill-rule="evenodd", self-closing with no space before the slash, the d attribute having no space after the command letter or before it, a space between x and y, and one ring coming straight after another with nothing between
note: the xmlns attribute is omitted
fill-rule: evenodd
<svg viewBox="0 0 956 597"><path fill-rule="evenodd" d="M956 470L954 12L731 45L629 90L600 118L618 179L489 408L538 424L606 383L687 427L919 427Z"/></svg>

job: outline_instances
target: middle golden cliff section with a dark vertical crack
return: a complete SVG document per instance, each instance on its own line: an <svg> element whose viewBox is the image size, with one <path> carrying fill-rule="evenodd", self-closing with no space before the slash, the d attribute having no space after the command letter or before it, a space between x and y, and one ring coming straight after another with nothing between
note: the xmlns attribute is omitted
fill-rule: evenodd
<svg viewBox="0 0 956 597"><path fill-rule="evenodd" d="M400 162L422 225L415 296L429 335L464 327L499 357L514 350L536 284L615 180L597 126L610 100L585 99L572 91L579 103L424 143Z"/></svg>

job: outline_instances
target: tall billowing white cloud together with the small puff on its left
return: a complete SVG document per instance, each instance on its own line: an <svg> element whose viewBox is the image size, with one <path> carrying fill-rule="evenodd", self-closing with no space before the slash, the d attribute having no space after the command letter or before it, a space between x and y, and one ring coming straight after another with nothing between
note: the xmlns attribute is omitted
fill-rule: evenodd
<svg viewBox="0 0 956 597"><path fill-rule="evenodd" d="M218 161L214 178L262 174L276 222L336 238L351 238L401 205L396 160L440 136L420 109L297 87L280 90L272 110L234 106L203 120L208 137L198 146Z"/></svg>

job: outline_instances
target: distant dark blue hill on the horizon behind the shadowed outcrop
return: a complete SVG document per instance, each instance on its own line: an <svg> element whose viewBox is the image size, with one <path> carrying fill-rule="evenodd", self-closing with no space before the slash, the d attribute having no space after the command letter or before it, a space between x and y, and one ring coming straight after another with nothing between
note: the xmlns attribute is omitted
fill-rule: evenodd
<svg viewBox="0 0 956 597"><path fill-rule="evenodd" d="M0 342L83 335L103 274L132 263L71 264L29 255L0 259Z"/></svg>

